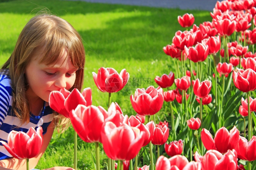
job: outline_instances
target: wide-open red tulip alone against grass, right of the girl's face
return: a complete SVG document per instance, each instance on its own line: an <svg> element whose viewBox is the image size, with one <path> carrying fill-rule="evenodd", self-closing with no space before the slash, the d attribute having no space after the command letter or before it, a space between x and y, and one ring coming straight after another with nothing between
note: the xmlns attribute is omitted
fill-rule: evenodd
<svg viewBox="0 0 256 170"><path fill-rule="evenodd" d="M120 74L113 68L101 67L98 74L93 72L93 80L102 92L114 93L120 91L129 80L129 73L126 69L121 70Z"/></svg>

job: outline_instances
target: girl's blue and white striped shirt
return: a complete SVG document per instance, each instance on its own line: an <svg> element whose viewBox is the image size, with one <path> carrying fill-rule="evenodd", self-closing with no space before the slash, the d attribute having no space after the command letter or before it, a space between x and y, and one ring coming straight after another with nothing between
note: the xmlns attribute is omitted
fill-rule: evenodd
<svg viewBox="0 0 256 170"><path fill-rule="evenodd" d="M35 130L41 126L43 134L46 133L48 125L53 120L52 109L49 104L44 102L42 112L35 116L32 113L30 122L21 124L21 120L12 112L12 88L11 80L8 75L0 74L0 141L7 142L10 131L27 132L30 127ZM0 142L0 160L12 157Z"/></svg>

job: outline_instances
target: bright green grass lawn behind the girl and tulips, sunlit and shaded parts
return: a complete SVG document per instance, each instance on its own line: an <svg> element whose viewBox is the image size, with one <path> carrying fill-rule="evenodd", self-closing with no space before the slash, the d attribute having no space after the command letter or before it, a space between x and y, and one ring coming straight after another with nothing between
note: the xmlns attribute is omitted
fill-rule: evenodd
<svg viewBox="0 0 256 170"><path fill-rule="evenodd" d="M4 1L0 3L0 64L12 53L18 35L27 21L42 9L49 9L52 14L67 20L81 34L86 52L84 88L92 88L93 105L107 108L108 94L97 89L92 77L92 72L97 72L100 67L112 67L118 72L125 68L131 80L141 81L141 84L127 86L128 90L112 94L112 101L118 102L124 114L128 115L135 115L129 96L134 94L136 88L147 88L149 85L156 87L156 75L174 71L173 60L162 48L171 44L176 31L184 31L177 16L192 13L198 26L211 20L210 12L198 10L82 1ZM145 78L150 82L143 83ZM161 110L160 115L164 115L164 112L166 109ZM73 166L73 134L72 126L63 134L54 132L51 144L37 168ZM79 169L93 169L93 148L93 144L79 139ZM104 166L106 156L103 149L101 151L101 163Z"/></svg>

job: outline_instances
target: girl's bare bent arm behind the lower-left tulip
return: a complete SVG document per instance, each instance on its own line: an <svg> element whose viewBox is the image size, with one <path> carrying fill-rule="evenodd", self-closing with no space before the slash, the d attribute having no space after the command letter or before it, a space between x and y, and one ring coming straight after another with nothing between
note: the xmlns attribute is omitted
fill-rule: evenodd
<svg viewBox="0 0 256 170"><path fill-rule="evenodd" d="M43 135L43 146L42 146L40 152L34 158L29 159L29 169L33 169L37 165L39 159L45 152L45 150L51 140L53 131L54 131L54 121L51 121L51 123L47 127L46 134ZM7 170L7 168L15 169L15 170L24 170L24 169L26 169L26 160L25 159L17 159L17 158L12 157L9 159L1 160L0 166L4 167L3 170ZM2 170L1 167L0 167L0 170Z"/></svg>

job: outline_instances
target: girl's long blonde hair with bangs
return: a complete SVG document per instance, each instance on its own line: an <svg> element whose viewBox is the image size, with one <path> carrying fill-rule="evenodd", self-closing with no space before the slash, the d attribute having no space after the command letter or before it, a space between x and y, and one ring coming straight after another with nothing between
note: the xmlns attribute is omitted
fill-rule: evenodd
<svg viewBox="0 0 256 170"><path fill-rule="evenodd" d="M13 89L13 111L22 123L28 123L30 117L29 102L26 100L26 66L32 54L39 48L44 48L44 56L40 63L53 64L59 60L63 49L68 50L71 62L79 69L76 80L70 91L82 90L85 65L85 50L81 36L70 23L55 15L38 15L29 20L21 31L10 58L2 66L2 71L9 69ZM65 127L68 120L55 113L55 122Z"/></svg>

